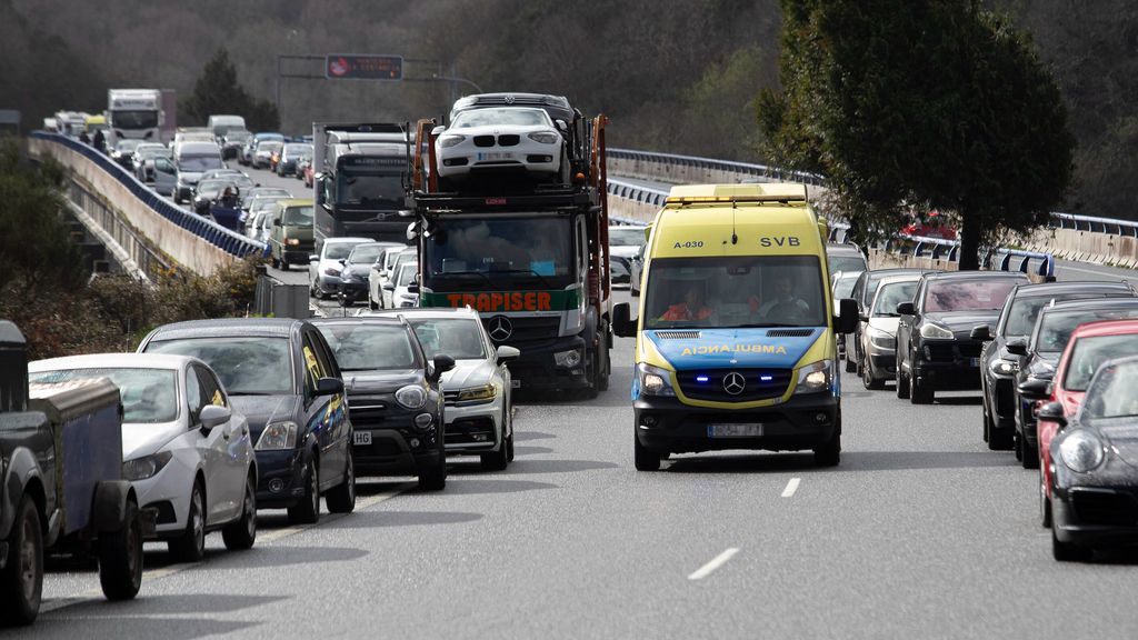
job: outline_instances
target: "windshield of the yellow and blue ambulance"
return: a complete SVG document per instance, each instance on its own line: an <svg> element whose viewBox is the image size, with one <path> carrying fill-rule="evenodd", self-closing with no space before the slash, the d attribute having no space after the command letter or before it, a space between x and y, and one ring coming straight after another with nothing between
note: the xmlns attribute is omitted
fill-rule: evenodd
<svg viewBox="0 0 1138 640"><path fill-rule="evenodd" d="M655 259L645 326L822 327L825 293L822 265L811 255Z"/></svg>

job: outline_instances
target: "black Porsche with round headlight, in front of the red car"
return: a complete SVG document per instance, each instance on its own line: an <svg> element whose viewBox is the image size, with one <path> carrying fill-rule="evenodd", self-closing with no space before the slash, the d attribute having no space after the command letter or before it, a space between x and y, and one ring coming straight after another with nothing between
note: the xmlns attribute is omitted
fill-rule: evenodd
<svg viewBox="0 0 1138 640"><path fill-rule="evenodd" d="M1052 402L1039 415L1052 441L1052 553L1088 560L1096 547L1138 543L1138 358L1104 362L1069 421Z"/></svg>

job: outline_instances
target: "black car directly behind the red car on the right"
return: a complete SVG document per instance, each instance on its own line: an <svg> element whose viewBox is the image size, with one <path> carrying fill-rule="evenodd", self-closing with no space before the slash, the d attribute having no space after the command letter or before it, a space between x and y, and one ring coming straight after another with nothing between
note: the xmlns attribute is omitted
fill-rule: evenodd
<svg viewBox="0 0 1138 640"><path fill-rule="evenodd" d="M1138 318L1138 298L1079 300L1057 302L1040 309L1031 336L1008 340L1006 345L1008 353L1020 359L1015 386L1033 380L1049 383L1054 379L1055 366L1079 325L1121 318ZM1016 391L1015 408L1015 459L1023 463L1024 469L1033 469L1039 463L1037 403Z"/></svg>

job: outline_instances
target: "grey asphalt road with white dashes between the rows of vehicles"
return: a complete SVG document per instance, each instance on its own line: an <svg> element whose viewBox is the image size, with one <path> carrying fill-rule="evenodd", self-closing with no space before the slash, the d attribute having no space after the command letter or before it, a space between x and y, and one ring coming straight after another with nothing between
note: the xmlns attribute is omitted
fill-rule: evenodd
<svg viewBox="0 0 1138 640"><path fill-rule="evenodd" d="M979 392L917 408L847 374L836 468L723 453L645 474L630 339L613 359L596 400L519 405L505 471L366 482L355 514L312 527L263 511L253 550L214 534L196 565L148 545L131 602L56 569L36 625L5 637L1138 637L1138 553L1052 559L1036 471L988 451Z"/></svg>

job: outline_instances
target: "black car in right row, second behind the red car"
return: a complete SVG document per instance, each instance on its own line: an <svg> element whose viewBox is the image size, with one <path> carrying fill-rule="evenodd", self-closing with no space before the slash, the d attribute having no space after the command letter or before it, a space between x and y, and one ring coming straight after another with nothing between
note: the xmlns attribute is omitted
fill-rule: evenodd
<svg viewBox="0 0 1138 640"><path fill-rule="evenodd" d="M986 340L980 352L983 392L983 437L992 451L1012 449L1015 434L1015 376L1020 356L1007 351L1009 340L1026 340L1039 310L1050 302L1102 297L1133 297L1128 282L1046 282L1012 290L995 327L978 327L973 337Z"/></svg>

